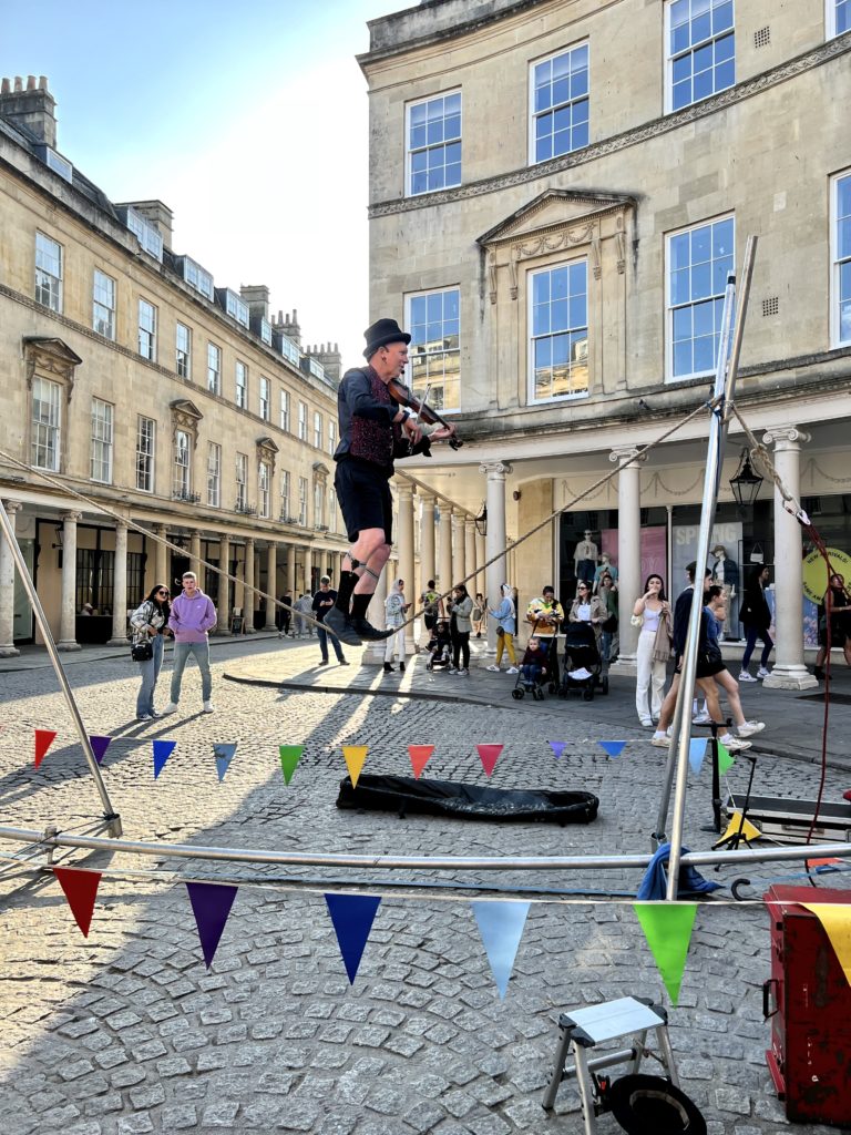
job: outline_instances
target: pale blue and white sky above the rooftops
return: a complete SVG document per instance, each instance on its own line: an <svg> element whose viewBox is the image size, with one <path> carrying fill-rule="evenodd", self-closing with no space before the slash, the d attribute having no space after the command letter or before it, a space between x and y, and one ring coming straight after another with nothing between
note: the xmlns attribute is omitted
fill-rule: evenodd
<svg viewBox="0 0 851 1135"><path fill-rule="evenodd" d="M0 0L0 76L45 75L57 150L159 199L217 287L266 284L354 365L369 323L366 20L415 0ZM6 8L6 10L3 10Z"/></svg>

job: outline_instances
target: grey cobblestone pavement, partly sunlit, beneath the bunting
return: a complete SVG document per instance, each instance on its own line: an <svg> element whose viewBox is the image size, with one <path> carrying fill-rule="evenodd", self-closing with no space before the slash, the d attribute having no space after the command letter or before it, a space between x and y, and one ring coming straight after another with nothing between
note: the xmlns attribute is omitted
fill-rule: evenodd
<svg viewBox="0 0 851 1135"><path fill-rule="evenodd" d="M90 732L113 738L103 768L125 835L354 854L649 850L666 755L649 746L634 713L624 711L615 731L614 701L605 708L605 699L574 700L568 709L555 700L495 706L482 692L480 704L441 704L224 680L225 672L312 673L315 655L315 642L218 645L216 714L200 714L191 665L182 713L148 723L133 720L137 679L123 654L69 665ZM160 705L169 666L160 678ZM354 665L349 671L356 674ZM330 681L344 672L331 666L322 673ZM364 669L359 681L377 679ZM99 801L52 673L6 669L0 683L3 822L86 825ZM59 734L37 771L34 728ZM613 734L630 742L616 760L596 745ZM154 738L177 741L155 782ZM559 762L549 740L566 742ZM237 742L221 783L212 756L220 741ZM395 773L410 772L410 743L431 743L428 774L483 783L475 754L482 741L505 746L491 779L496 787L593 791L597 822L561 829L399 821L335 807L344 743L369 746L366 772ZM288 788L278 763L283 743L305 746ZM747 775L741 764L730 775L735 788ZM760 759L759 777L764 793L811 797L818 770L770 757ZM836 797L846 780L828 770L828 794ZM691 782L690 847L708 846L711 836L700 830L708 819L705 771ZM579 1133L579 1101L568 1085L553 1117L540 1107L559 1011L629 993L667 1003L629 902L639 871L344 876L342 869L285 873L82 852L70 863L104 872L87 939L52 877L12 875L0 884L0 1083L8 1135ZM758 897L768 880L797 871L770 864L749 869L750 893ZM200 877L252 881L239 890L209 972L179 882ZM322 898L344 877L384 894L351 987ZM714 877L728 884L734 874L724 869ZM462 894L445 885L461 882L469 888ZM537 901L504 1001L469 907L477 885L537 892L526 894ZM683 1087L703 1110L710 1135L791 1130L765 1067L767 976L761 905L702 905L671 1035ZM610 1116L599 1129L620 1130Z"/></svg>

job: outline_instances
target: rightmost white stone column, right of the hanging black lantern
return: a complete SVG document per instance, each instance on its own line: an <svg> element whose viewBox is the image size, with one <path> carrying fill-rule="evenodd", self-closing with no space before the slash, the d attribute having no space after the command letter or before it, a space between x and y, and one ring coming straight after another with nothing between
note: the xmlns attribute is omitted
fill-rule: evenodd
<svg viewBox="0 0 851 1135"><path fill-rule="evenodd" d="M797 499L801 494L801 445L809 440L810 435L797 426L777 426L762 435L765 445L774 445L774 465ZM777 641L774 669L762 684L776 690L807 690L818 686L803 664L802 555L801 527L783 507L783 497L775 486L774 598ZM744 587L744 580L740 586Z"/></svg>

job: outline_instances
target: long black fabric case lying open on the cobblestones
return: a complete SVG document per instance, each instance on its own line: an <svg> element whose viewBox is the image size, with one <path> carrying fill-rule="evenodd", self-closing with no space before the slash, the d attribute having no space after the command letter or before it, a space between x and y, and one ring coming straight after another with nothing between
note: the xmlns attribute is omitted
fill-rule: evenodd
<svg viewBox="0 0 851 1135"><path fill-rule="evenodd" d="M544 789L480 788L458 781L413 776L361 776L340 781L338 808L458 816L462 819L541 819L551 824L590 824L600 801L590 792Z"/></svg>

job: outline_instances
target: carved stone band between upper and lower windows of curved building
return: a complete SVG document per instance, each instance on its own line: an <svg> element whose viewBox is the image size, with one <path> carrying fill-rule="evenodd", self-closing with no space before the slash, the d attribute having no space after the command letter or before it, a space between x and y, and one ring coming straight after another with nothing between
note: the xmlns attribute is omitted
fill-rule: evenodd
<svg viewBox="0 0 851 1135"><path fill-rule="evenodd" d="M536 166L524 166L521 169L500 174L497 177L486 177L479 182L470 182L455 190L440 190L436 193L423 193L415 197L397 197L393 201L379 201L369 207L368 216L370 220L379 217L389 217L395 213L412 212L415 209L429 209L433 205L449 204L454 201L463 201L467 197L478 197L486 193L498 193L500 190L508 190L515 185L525 185L529 182L537 182L549 177L553 174L561 174L567 169L579 169L606 154L626 150L630 146L639 145L650 138L660 137L672 131L679 129L690 123L701 118L708 118L718 110L744 102L769 87L785 83L786 79L795 78L814 67L829 62L840 56L851 52L851 32L845 32L833 40L820 43L811 51L806 51L794 59L789 59L777 67L773 67L753 78L736 83L735 86L721 94L715 94L710 99L677 110L672 115L663 115L642 126L633 127L621 134L604 138L600 142L592 142L591 145L579 150L575 153L565 154L563 158L554 158L551 161L542 161Z"/></svg>

